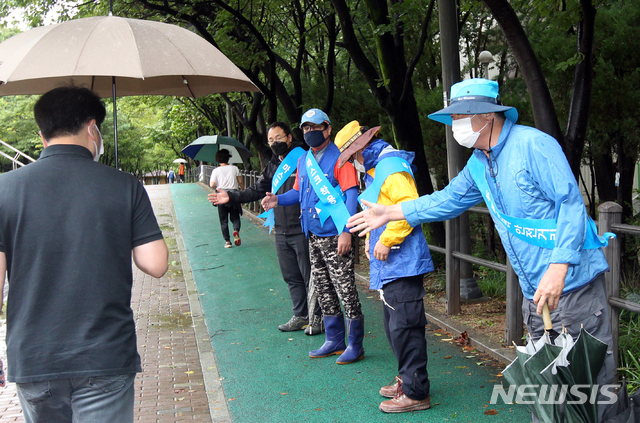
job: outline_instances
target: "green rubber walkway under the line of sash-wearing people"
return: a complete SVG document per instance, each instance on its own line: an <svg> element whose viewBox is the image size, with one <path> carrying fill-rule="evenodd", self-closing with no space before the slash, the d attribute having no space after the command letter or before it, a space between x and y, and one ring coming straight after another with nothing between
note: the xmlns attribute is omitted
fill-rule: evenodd
<svg viewBox="0 0 640 423"><path fill-rule="evenodd" d="M258 422L530 422L525 406L489 405L499 369L427 332L432 408L384 414L378 389L396 375L383 331L378 294L360 292L365 359L339 366L336 357L311 359L324 335L280 332L291 317L274 238L242 219L242 246L223 248L217 210L198 184L174 184L175 212L222 386L235 423ZM446 357L446 358L445 358ZM497 414L485 414L495 409Z"/></svg>

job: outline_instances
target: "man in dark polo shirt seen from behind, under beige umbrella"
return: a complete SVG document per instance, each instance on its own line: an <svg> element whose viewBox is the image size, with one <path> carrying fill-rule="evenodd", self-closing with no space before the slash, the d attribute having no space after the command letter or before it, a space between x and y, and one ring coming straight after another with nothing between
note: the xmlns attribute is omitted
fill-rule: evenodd
<svg viewBox="0 0 640 423"><path fill-rule="evenodd" d="M131 259L159 278L167 246L142 184L96 163L105 117L98 96L56 88L34 114L40 158L0 175L9 381L27 423L132 422L142 369Z"/></svg>

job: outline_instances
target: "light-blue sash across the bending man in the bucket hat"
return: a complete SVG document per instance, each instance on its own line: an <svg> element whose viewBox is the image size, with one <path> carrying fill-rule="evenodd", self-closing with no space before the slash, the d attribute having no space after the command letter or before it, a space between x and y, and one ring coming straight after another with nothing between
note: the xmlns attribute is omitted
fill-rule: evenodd
<svg viewBox="0 0 640 423"><path fill-rule="evenodd" d="M536 247L553 249L556 239L555 219L522 219L511 217L500 213L491 198L491 191L487 184L485 168L482 162L475 156L471 156L467 162L467 168L471 177L478 186L494 221L502 223L509 233L516 238ZM606 232L603 236L598 235L595 222L587 216L587 236L582 246L583 250L592 250L609 245L609 238L615 238L616 234Z"/></svg>

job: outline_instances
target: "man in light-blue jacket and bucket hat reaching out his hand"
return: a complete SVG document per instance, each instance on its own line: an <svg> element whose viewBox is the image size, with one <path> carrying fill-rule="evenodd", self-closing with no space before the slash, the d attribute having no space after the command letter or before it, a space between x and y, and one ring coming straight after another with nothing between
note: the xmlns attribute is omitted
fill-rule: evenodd
<svg viewBox="0 0 640 423"><path fill-rule="evenodd" d="M411 226L459 216L485 201L524 294L522 312L536 340L544 333L545 303L554 329L577 338L581 326L609 346L598 384L615 376L604 273L609 266L595 223L587 215L558 142L517 125L518 112L499 101L498 83L474 78L451 87L451 105L429 118L451 125L456 141L473 154L443 190L414 201L369 208L349 219L361 236L392 220ZM599 416L604 406L599 406Z"/></svg>

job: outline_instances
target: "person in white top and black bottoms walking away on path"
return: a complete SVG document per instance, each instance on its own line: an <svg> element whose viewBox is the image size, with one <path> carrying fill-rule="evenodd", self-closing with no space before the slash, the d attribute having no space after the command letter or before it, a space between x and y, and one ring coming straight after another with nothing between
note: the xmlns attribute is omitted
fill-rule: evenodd
<svg viewBox="0 0 640 423"><path fill-rule="evenodd" d="M229 158L231 154L229 150L221 149L216 153L216 161L220 164L217 168L211 172L211 178L209 179L209 186L213 189L220 188L227 191L235 191L238 189L244 189L244 182L242 176L240 176L240 170L229 164ZM233 240L236 247L239 247L242 241L240 240L240 215L242 214L242 207L239 204L220 204L218 206L218 216L220 217L220 229L222 230L222 237L224 238L224 248L231 248L231 237L229 236L229 217L231 217L231 224L233 225Z"/></svg>

